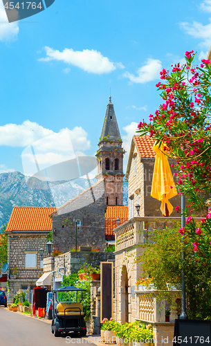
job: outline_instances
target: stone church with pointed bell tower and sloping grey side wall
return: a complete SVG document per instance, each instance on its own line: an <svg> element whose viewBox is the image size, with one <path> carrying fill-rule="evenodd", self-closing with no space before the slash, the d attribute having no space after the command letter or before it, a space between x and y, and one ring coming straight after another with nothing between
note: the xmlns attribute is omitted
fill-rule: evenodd
<svg viewBox="0 0 211 346"><path fill-rule="evenodd" d="M75 248L76 224L77 246L102 250L106 242L114 244L116 219L120 218L120 224L127 220L127 207L123 206L124 149L111 97L98 147L97 183L51 215L53 244L59 251Z"/></svg>

